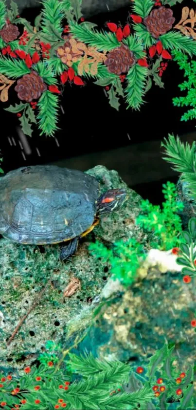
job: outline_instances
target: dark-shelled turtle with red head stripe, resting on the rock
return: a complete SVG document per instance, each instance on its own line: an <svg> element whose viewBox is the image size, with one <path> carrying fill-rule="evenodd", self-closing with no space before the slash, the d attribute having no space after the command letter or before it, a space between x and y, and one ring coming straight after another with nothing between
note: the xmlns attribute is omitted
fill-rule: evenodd
<svg viewBox="0 0 196 410"><path fill-rule="evenodd" d="M0 178L0 234L20 244L59 243L63 261L75 254L79 239L100 216L117 211L125 199L122 188L100 194L98 180L82 171L21 167Z"/></svg>

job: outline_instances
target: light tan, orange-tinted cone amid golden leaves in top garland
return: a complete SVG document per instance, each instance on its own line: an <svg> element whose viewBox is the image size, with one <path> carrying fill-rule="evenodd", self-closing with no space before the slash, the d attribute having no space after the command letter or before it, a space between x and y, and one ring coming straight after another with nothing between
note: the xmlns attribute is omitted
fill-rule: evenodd
<svg viewBox="0 0 196 410"><path fill-rule="evenodd" d="M65 44L58 47L57 57L61 59L62 63L71 67L73 63L81 60L84 51L77 49L77 41L72 39L71 34L63 36L63 39L65 40ZM70 43L70 40L72 44Z"/></svg>

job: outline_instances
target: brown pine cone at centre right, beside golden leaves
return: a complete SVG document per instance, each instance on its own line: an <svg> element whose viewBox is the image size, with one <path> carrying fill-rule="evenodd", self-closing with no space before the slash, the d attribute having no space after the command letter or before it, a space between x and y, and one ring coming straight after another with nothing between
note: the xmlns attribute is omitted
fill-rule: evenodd
<svg viewBox="0 0 196 410"><path fill-rule="evenodd" d="M125 44L110 51L105 61L108 71L117 75L126 73L135 63L133 52Z"/></svg>

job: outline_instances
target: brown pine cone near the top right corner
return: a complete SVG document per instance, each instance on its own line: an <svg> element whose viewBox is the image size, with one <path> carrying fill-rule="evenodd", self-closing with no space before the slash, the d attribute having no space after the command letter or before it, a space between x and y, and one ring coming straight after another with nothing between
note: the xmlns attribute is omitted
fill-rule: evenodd
<svg viewBox="0 0 196 410"><path fill-rule="evenodd" d="M143 19L143 22L147 30L157 39L161 34L171 30L175 18L171 8L161 6L158 9L152 10L150 15Z"/></svg>

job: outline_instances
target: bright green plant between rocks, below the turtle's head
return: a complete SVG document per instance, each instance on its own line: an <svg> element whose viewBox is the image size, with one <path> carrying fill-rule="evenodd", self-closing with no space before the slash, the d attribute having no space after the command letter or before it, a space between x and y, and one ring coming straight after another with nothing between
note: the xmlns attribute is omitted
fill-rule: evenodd
<svg viewBox="0 0 196 410"><path fill-rule="evenodd" d="M141 259L145 259L143 245L134 238L126 242L115 242L112 249L96 241L89 245L89 251L95 258L102 258L111 265L110 272L125 286L129 286L136 277Z"/></svg>

